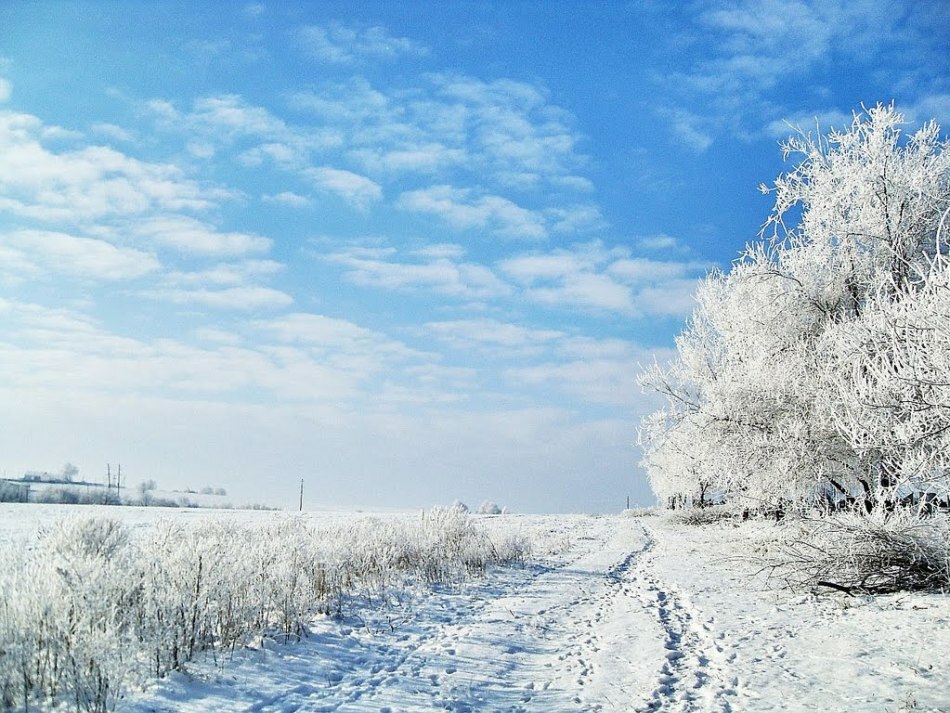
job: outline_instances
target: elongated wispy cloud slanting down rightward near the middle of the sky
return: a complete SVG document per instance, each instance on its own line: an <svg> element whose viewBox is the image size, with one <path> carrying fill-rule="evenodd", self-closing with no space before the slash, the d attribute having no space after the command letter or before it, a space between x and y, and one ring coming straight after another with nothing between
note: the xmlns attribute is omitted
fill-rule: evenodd
<svg viewBox="0 0 950 713"><path fill-rule="evenodd" d="M478 195L472 189L432 186L403 193L396 206L429 213L461 230L483 229L504 238L547 237L544 218L501 196Z"/></svg>

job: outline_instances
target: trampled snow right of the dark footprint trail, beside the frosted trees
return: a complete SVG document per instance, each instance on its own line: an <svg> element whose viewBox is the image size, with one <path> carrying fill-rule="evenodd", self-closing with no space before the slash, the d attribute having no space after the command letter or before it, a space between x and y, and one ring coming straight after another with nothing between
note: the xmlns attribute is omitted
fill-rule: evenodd
<svg viewBox="0 0 950 713"><path fill-rule="evenodd" d="M643 569L686 621L678 648L693 663L678 680L704 681L702 710L950 710L947 595L776 590L754 560L774 525L648 520Z"/></svg>

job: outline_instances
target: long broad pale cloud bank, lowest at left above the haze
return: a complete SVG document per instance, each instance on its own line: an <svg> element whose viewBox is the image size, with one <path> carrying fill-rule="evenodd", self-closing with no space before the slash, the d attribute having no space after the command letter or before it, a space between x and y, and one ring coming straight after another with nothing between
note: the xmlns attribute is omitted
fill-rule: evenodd
<svg viewBox="0 0 950 713"><path fill-rule="evenodd" d="M214 305L217 306L217 305ZM327 402L352 398L370 372L367 363L333 366L299 349L259 344L241 348L221 330L206 333L213 346L192 346L171 339L122 337L89 318L67 310L14 305L3 315L0 381L6 388L46 391L69 402L82 397L121 394L126 404L143 406L148 396L179 400L191 397L199 406L216 396L254 403L247 390L287 401ZM229 399L230 400L230 399ZM229 404L235 407L235 403Z"/></svg>

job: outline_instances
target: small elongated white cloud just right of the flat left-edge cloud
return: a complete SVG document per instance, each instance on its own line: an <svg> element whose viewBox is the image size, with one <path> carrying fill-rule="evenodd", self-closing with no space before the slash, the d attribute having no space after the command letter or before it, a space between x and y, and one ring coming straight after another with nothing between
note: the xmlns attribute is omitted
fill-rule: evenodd
<svg viewBox="0 0 950 713"><path fill-rule="evenodd" d="M130 230L156 245L186 254L240 256L270 249L271 241L259 235L221 232L214 226L182 215L165 215L136 223Z"/></svg>

